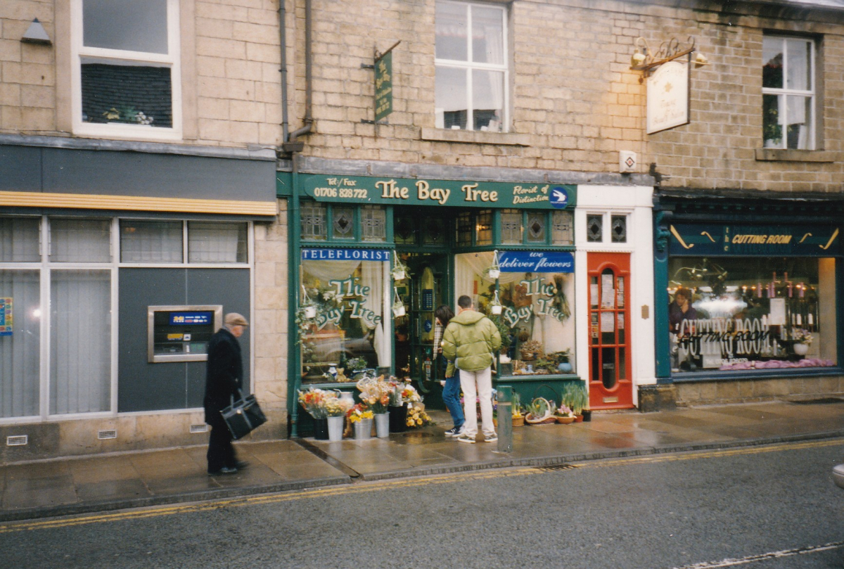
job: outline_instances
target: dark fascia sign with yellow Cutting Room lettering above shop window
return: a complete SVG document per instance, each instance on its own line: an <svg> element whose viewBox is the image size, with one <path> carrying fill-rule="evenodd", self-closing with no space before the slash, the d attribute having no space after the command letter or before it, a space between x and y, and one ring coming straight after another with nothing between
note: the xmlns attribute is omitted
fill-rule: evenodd
<svg viewBox="0 0 844 569"><path fill-rule="evenodd" d="M830 257L841 254L841 230L818 225L669 225L671 255Z"/></svg>

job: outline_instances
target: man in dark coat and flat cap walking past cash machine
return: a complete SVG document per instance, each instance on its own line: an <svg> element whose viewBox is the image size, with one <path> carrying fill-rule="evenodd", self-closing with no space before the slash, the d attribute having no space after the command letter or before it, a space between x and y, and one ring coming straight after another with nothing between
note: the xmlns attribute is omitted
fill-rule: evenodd
<svg viewBox="0 0 844 569"><path fill-rule="evenodd" d="M237 341L249 326L241 314L225 315L224 326L208 341L208 368L205 374L205 422L211 425L208 439L208 474L234 474L245 469L246 463L237 460L231 433L220 411L231 404L232 396L239 398L243 388L243 358Z"/></svg>

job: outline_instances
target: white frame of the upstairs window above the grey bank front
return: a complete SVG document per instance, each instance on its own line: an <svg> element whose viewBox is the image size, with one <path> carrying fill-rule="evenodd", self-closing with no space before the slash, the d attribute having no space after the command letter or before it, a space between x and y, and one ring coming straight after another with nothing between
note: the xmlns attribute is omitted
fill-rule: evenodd
<svg viewBox="0 0 844 569"><path fill-rule="evenodd" d="M147 53L124 51L102 47L84 46L83 9L84 0L71 0L71 117L73 133L84 136L129 139L181 140L181 65L180 65L180 23L179 0L167 0L167 51L168 53ZM170 68L170 101L172 127L149 125L108 124L82 121L82 58L96 57L116 62L153 63Z"/></svg>

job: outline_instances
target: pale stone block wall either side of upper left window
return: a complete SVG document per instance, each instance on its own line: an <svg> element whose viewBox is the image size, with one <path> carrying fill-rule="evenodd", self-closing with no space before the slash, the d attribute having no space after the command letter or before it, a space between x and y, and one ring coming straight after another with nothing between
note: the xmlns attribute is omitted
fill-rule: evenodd
<svg viewBox="0 0 844 569"><path fill-rule="evenodd" d="M20 42L36 17L53 46ZM0 3L0 133L71 134L57 118L72 112L69 73L57 69L70 62L69 34L54 2ZM279 45L279 0L182 0L183 142L280 144Z"/></svg>

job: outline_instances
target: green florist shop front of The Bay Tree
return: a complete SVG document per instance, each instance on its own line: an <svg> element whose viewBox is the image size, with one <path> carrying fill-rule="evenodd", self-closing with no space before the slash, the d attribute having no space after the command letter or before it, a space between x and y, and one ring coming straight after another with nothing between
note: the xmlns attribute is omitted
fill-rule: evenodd
<svg viewBox="0 0 844 569"><path fill-rule="evenodd" d="M279 178L281 180L281 178ZM354 391L361 371L408 377L445 409L437 306L469 295L505 346L495 384L560 401L574 369L576 187L298 174L289 202L289 433L311 431L302 387Z"/></svg>

